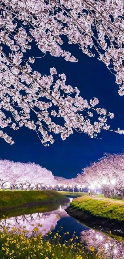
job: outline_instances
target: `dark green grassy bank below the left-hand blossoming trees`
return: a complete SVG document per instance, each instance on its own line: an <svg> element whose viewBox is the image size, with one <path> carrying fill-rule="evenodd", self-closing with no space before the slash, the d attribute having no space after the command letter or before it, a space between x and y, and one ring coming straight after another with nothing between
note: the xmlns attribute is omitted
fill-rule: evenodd
<svg viewBox="0 0 124 259"><path fill-rule="evenodd" d="M64 198L66 199L66 196L53 190L0 192L0 210L18 207L28 203L61 201Z"/></svg>

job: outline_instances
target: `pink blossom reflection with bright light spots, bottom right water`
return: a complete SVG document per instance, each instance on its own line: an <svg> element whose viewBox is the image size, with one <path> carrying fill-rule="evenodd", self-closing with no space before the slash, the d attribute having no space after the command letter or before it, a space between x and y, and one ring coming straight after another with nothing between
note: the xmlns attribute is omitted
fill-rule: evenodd
<svg viewBox="0 0 124 259"><path fill-rule="evenodd" d="M121 237L119 238L121 240ZM81 241L90 250L102 254L102 258L123 259L124 242L113 239L101 232L89 229L81 233Z"/></svg>

